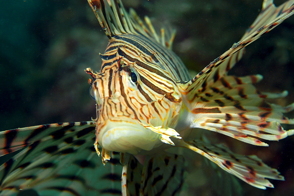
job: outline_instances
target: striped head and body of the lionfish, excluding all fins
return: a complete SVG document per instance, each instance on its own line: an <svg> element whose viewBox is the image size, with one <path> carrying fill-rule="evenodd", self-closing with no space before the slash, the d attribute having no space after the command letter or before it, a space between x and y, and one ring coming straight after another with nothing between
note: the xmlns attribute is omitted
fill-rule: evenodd
<svg viewBox="0 0 294 196"><path fill-rule="evenodd" d="M101 73L91 81L101 108L99 144L132 154L162 145L160 134L146 126L177 125L182 107L177 83L188 78L181 60L156 40L132 34L112 37L100 56Z"/></svg>

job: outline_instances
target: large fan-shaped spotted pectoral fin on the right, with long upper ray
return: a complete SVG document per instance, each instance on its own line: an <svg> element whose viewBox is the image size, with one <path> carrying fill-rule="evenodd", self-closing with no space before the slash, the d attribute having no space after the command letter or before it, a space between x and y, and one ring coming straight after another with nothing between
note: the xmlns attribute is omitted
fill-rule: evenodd
<svg viewBox="0 0 294 196"><path fill-rule="evenodd" d="M294 1L275 7L265 0L257 19L238 43L225 52L190 82L183 84L188 109L195 120L191 127L225 134L257 146L268 146L257 138L280 140L294 134L280 124L294 124L294 119L283 113L294 109L294 104L281 107L269 104L265 98L279 98L287 92L270 94L258 92L252 84L261 75L246 77L228 76L227 72L243 54L243 48L293 14Z"/></svg>

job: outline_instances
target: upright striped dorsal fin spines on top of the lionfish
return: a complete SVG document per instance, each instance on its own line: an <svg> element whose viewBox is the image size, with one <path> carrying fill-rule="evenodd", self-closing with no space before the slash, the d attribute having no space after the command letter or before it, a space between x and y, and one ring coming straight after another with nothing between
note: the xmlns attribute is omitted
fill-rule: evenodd
<svg viewBox="0 0 294 196"><path fill-rule="evenodd" d="M169 34L161 28L161 33L158 35L147 16L144 18L146 27L133 9L130 9L130 13L124 9L121 0L88 0L88 2L109 39L126 33L140 34L171 48L175 31Z"/></svg>

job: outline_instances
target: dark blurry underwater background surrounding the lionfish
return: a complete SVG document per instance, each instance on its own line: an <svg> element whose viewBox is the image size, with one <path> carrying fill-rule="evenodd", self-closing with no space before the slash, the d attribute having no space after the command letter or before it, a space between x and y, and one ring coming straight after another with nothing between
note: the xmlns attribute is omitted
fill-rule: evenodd
<svg viewBox="0 0 294 196"><path fill-rule="evenodd" d="M285 1L274 2L280 5ZM262 0L123 0L123 4L127 10L134 8L141 18L148 15L158 30L161 26L175 28L173 51L188 69L198 73L238 42L258 15ZM1 1L0 130L95 118L95 101L89 96L89 75L84 69L100 70L98 54L104 52L107 42L86 0ZM258 89L288 90L287 97L271 100L286 106L294 102L293 66L291 16L246 47L245 55L230 74L263 75L256 85ZM294 112L286 116L294 118ZM217 133L208 135L235 153L257 155L285 176L285 181L271 180L275 188L267 190L238 180L242 194L294 194L294 136L269 141L269 147L257 147ZM199 157L195 155L187 165L184 192L215 195L219 193L218 186L230 189L226 178L207 168Z"/></svg>

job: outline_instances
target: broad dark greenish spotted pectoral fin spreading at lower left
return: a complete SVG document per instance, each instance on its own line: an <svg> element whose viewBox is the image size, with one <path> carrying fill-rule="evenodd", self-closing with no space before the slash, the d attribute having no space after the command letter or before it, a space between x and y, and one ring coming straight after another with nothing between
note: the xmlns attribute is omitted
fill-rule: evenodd
<svg viewBox="0 0 294 196"><path fill-rule="evenodd" d="M1 154L22 151L0 166L0 195L121 195L119 155L102 166L93 143L95 122L47 124L0 133ZM26 143L21 141L27 141ZM19 147L21 146L21 147ZM8 150L8 151L7 151ZM95 179L95 180L93 180Z"/></svg>

